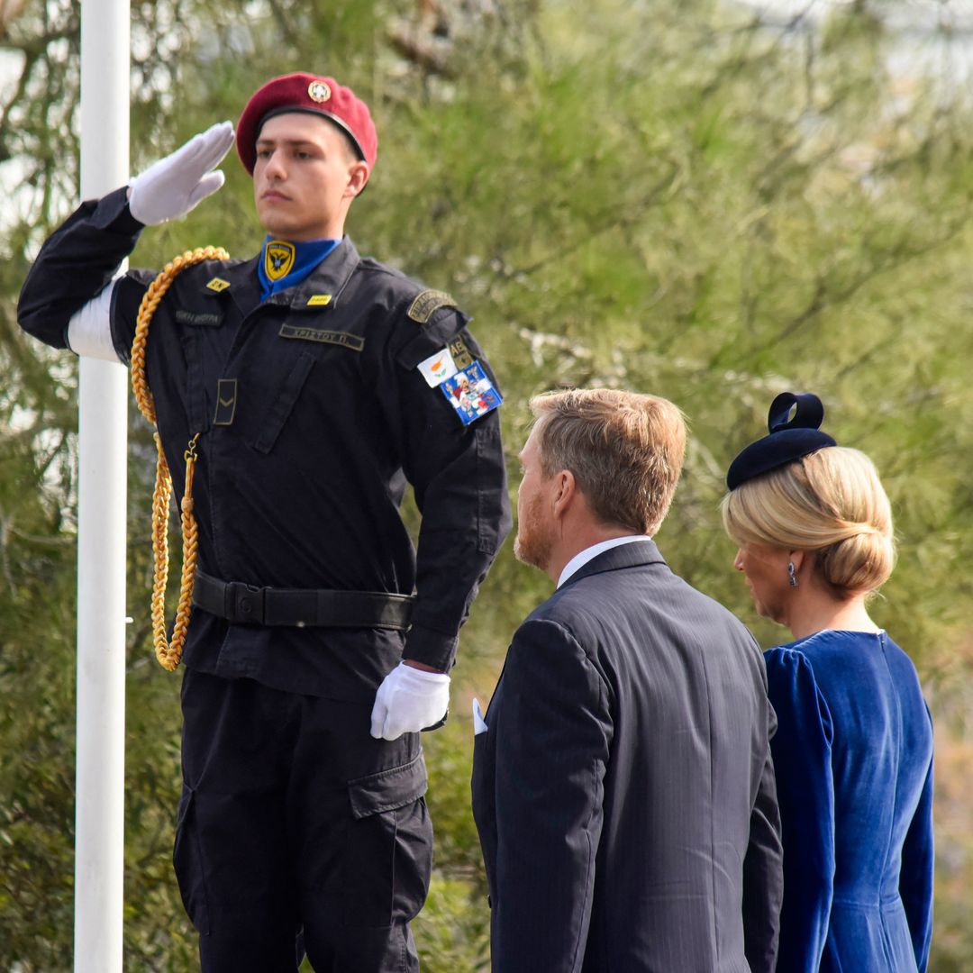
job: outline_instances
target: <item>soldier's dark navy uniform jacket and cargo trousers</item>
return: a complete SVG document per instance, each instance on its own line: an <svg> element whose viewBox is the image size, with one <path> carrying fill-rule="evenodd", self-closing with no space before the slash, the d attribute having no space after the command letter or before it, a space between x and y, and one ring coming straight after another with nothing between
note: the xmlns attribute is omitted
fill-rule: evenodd
<svg viewBox="0 0 973 973"><path fill-rule="evenodd" d="M141 230L125 190L83 204L24 283L24 330L65 346L71 315ZM425 768L417 735L372 739L369 714L403 657L450 668L510 528L497 413L463 425L417 369L450 342L488 366L445 295L347 238L264 303L257 259L184 270L149 333L177 499L201 433L198 567L242 583L227 591L233 621L197 607L189 627L177 874L206 969L293 970L299 923L318 970L413 969L408 920L432 839ZM154 276L129 270L114 285L123 361ZM399 516L407 481L417 555ZM415 593L412 625L276 625L245 586Z"/></svg>

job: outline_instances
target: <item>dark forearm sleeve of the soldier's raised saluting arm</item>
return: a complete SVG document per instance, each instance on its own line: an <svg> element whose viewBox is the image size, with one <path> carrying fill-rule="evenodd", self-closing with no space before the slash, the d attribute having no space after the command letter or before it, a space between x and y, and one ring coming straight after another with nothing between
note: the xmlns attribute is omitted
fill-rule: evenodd
<svg viewBox="0 0 973 973"><path fill-rule="evenodd" d="M17 308L20 327L55 348L67 347L71 316L111 283L142 229L128 212L125 188L82 203L48 237L27 274Z"/></svg>

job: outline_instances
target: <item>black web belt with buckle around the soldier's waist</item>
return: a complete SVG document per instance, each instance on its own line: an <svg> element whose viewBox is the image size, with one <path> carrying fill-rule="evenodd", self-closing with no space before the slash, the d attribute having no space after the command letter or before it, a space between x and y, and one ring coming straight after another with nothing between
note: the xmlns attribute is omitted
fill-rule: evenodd
<svg viewBox="0 0 973 973"><path fill-rule="evenodd" d="M193 604L234 625L337 629L409 628L413 595L308 588L257 588L196 572Z"/></svg>

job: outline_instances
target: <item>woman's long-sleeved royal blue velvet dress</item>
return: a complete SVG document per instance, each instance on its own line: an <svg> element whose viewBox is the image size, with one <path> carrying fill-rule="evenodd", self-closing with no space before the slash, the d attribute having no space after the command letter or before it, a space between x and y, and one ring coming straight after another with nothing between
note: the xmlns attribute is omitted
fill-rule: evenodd
<svg viewBox="0 0 973 973"><path fill-rule="evenodd" d="M925 970L932 935L932 722L882 631L765 653L784 850L778 973Z"/></svg>

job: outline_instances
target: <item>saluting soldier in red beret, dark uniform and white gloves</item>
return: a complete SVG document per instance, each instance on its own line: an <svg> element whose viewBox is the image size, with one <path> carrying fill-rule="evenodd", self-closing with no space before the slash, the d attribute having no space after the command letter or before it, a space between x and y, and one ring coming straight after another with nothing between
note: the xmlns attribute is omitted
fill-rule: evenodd
<svg viewBox="0 0 973 973"><path fill-rule="evenodd" d="M144 352L177 500L195 459L176 875L204 973L294 970L301 930L318 971L412 971L432 856L418 731L446 715L510 528L501 398L450 297L343 235L377 158L363 101L275 78L235 142L263 249L179 273ZM213 126L83 203L27 276L23 329L128 362L156 274L117 270L222 186L233 143Z"/></svg>

